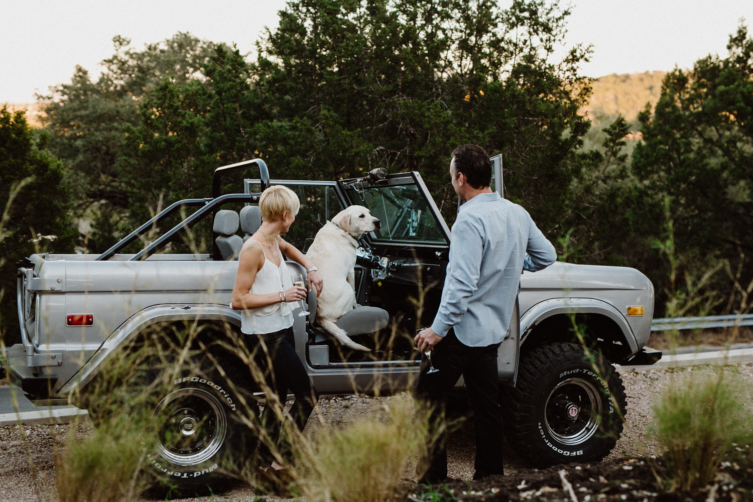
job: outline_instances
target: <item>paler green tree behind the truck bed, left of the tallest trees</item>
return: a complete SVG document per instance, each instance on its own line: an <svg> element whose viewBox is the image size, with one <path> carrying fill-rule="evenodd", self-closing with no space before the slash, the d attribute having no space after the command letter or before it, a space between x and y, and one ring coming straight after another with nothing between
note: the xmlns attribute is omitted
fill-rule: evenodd
<svg viewBox="0 0 753 502"><path fill-rule="evenodd" d="M66 162L82 189L75 214L93 220L92 234L80 244L94 252L117 242L120 220L133 205L117 163L127 137L123 129L142 120L140 100L165 78L176 83L203 78L215 47L181 32L147 44L144 50L134 49L129 39L120 36L113 43L115 53L102 61L96 82L77 66L70 84L50 87L50 94L37 96L43 103L44 124L52 133L50 151Z"/></svg>

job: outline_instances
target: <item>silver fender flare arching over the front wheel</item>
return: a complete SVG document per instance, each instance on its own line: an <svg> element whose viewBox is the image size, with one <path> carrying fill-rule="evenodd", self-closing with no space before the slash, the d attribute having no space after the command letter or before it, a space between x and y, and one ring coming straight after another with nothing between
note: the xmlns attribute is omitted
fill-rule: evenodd
<svg viewBox="0 0 753 502"><path fill-rule="evenodd" d="M526 341L536 324L544 319L557 314L600 314L614 321L622 331L623 342L630 349L630 355L639 351L636 336L627 324L627 319L622 313L602 300L596 298L552 298L537 303L520 316L520 343Z"/></svg>

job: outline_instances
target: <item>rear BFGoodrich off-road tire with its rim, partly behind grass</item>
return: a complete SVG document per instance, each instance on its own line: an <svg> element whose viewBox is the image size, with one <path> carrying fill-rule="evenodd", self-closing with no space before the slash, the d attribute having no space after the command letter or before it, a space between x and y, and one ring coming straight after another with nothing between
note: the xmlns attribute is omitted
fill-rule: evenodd
<svg viewBox="0 0 753 502"><path fill-rule="evenodd" d="M232 367L224 373L181 370L155 397L152 442L143 446L149 463L145 470L172 497L217 493L252 458L258 438L243 422L249 410L238 396L249 388L249 379ZM246 401L256 406L248 397ZM204 437L192 442L193 434L200 433Z"/></svg>

